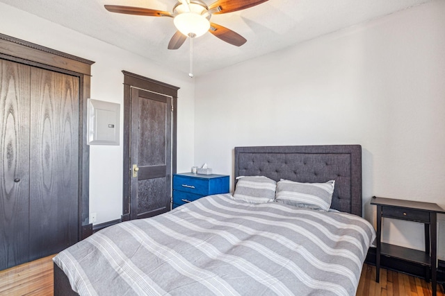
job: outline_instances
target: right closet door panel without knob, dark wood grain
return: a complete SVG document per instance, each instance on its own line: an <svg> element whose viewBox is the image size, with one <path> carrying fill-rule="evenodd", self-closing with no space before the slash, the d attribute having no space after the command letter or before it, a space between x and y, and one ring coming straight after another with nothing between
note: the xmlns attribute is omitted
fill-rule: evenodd
<svg viewBox="0 0 445 296"><path fill-rule="evenodd" d="M78 241L79 78L31 71L30 259Z"/></svg>

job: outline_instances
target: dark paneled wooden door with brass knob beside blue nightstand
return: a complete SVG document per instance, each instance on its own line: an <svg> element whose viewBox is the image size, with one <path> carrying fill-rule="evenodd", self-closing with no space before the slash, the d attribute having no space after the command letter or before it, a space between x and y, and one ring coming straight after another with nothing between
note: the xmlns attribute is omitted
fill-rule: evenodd
<svg viewBox="0 0 445 296"><path fill-rule="evenodd" d="M172 97L131 88L130 218L170 210Z"/></svg>

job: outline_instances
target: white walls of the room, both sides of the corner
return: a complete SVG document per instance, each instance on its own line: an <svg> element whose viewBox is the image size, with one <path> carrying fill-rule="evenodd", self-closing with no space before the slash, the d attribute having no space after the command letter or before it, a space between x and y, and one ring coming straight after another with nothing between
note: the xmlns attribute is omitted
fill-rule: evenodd
<svg viewBox="0 0 445 296"><path fill-rule="evenodd" d="M122 70L181 87L179 172L207 162L232 175L235 146L361 144L364 213L373 221L372 195L445 207L443 15L445 1L437 0L198 77L195 85L184 73L3 3L0 32L95 61L97 100L122 104ZM90 147L93 211L97 223L122 214L122 145ZM384 241L423 248L421 225L396 221L384 231ZM439 246L445 259L445 222Z"/></svg>

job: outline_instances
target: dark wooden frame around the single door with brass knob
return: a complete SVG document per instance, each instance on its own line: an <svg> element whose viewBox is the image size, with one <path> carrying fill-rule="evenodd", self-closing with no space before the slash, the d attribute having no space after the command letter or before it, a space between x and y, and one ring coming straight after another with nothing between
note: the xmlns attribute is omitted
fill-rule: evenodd
<svg viewBox="0 0 445 296"><path fill-rule="evenodd" d="M172 174L176 173L177 164L177 94L179 87L146 78L138 74L122 71L124 73L124 157L123 157L123 186L122 186L122 221L130 220L130 137L131 137L131 87L146 89L149 92L172 97Z"/></svg>

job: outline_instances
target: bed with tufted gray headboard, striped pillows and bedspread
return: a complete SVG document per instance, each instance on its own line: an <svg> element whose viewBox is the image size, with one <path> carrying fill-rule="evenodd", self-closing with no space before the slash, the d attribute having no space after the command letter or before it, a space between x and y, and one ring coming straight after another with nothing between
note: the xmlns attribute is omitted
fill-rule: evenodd
<svg viewBox="0 0 445 296"><path fill-rule="evenodd" d="M237 147L233 194L67 248L54 258L54 295L355 295L375 238L361 155L359 145ZM329 204L302 206L301 186L332 187Z"/></svg>

